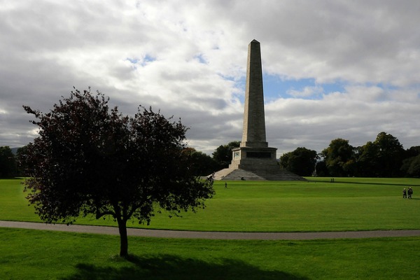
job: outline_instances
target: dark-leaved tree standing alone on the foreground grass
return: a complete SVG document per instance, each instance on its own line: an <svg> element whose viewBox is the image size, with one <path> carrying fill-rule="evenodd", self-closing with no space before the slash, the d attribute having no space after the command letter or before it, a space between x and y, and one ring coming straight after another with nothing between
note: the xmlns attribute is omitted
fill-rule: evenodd
<svg viewBox="0 0 420 280"><path fill-rule="evenodd" d="M156 210L180 216L204 208L212 181L200 181L182 151L186 127L152 109L132 117L109 109L109 98L73 90L49 113L34 111L39 137L20 162L27 198L46 223L79 216L118 222L120 255L128 255L127 221L150 223Z"/></svg>

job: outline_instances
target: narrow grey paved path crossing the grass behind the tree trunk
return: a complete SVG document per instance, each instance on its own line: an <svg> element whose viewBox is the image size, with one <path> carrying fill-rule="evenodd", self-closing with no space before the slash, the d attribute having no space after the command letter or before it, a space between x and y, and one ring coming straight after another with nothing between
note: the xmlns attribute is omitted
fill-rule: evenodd
<svg viewBox="0 0 420 280"><path fill-rule="evenodd" d="M101 235L119 235L118 228L94 225L62 225L28 222L0 221L1 228L25 228L31 230L55 230L85 232ZM127 234L137 237L165 237L190 239L254 239L254 240L309 240L369 237L413 237L420 230L372 230L359 232L193 232L182 230L144 230L128 228Z"/></svg>

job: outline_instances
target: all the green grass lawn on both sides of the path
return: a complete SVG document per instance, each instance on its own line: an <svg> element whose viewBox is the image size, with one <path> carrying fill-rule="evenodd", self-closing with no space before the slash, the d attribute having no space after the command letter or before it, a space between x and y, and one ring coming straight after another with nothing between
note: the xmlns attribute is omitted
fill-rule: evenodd
<svg viewBox="0 0 420 280"><path fill-rule="evenodd" d="M417 179L216 182L207 209L156 216L150 228L221 231L419 229ZM0 180L0 220L37 221L21 180ZM414 199L402 200L413 186ZM79 223L115 225L81 219ZM137 226L135 223L132 226ZM0 228L0 279L419 279L420 237L246 241ZM410 269L412 267L412 269Z"/></svg>

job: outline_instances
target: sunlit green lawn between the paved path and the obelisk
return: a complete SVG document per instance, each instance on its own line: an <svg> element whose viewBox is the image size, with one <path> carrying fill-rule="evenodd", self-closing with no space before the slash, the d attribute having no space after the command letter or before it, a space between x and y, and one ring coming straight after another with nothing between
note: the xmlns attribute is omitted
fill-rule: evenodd
<svg viewBox="0 0 420 280"><path fill-rule="evenodd" d="M419 179L310 178L307 182L216 181L207 208L183 218L158 214L151 225L130 227L239 232L309 232L420 228ZM413 200L402 199L412 186ZM0 220L37 221L20 180L0 180ZM112 219L79 219L80 224L113 225Z"/></svg>

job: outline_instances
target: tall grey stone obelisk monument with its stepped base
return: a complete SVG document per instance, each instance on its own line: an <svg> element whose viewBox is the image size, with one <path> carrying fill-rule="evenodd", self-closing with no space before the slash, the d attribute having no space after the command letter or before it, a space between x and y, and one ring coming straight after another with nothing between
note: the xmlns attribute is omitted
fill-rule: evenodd
<svg viewBox="0 0 420 280"><path fill-rule="evenodd" d="M232 153L229 168L215 173L216 180L304 180L282 170L276 160L276 148L269 148L265 136L264 93L260 43L248 45L244 129L239 148Z"/></svg>

